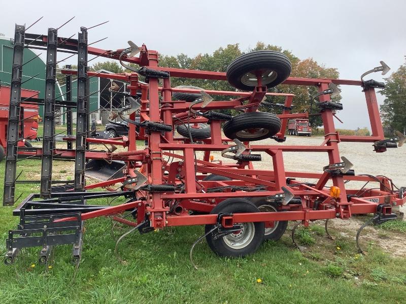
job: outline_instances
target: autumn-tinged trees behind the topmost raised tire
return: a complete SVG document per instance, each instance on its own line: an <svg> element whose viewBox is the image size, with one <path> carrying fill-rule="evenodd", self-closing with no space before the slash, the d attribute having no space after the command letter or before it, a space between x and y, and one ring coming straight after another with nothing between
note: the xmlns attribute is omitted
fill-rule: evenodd
<svg viewBox="0 0 406 304"><path fill-rule="evenodd" d="M305 60L300 60L291 51L283 50L281 47L275 45L265 45L263 42L258 42L254 48L249 49L247 52L258 51L258 50L274 50L284 53L292 63L292 77L306 77L306 78L339 78L339 72L336 68L326 68L324 65L319 65L313 58L308 58ZM240 50L239 44L230 44L227 47L220 47L213 54L198 54L194 58L189 58L185 54L179 54L177 56L160 56L159 66L172 67L172 68L187 68L187 69L198 69L198 70L209 70L225 72L228 65L236 57L244 54ZM193 85L207 90L223 90L223 91L234 91L235 88L231 87L225 81L217 80L193 80L186 78L172 78L172 87L179 85ZM280 85L269 90L269 92L277 93L292 93L295 94L293 98L294 112L310 111L312 96L317 93L316 87L305 87L305 86L287 86ZM229 96L213 96L217 100L226 100ZM337 97L335 100L340 100L341 97ZM268 98L270 102L283 103L284 98L272 97ZM272 111L279 113L280 110L276 108L262 107L262 111ZM313 105L313 113L319 112L320 109ZM311 122L314 126L321 126L320 117L312 117Z"/></svg>

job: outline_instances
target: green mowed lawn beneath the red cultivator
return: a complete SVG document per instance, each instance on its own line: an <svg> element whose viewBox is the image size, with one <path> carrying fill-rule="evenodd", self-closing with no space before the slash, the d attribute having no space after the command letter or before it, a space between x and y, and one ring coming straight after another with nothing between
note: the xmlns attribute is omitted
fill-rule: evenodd
<svg viewBox="0 0 406 304"><path fill-rule="evenodd" d="M17 163L21 179L33 179L41 162ZM73 165L73 163L71 163ZM3 193L4 161L0 167ZM16 197L39 192L39 185L18 184ZM105 204L104 200L96 203ZM9 229L18 222L12 207L0 208L0 249L6 252ZM199 243L194 270L189 249L204 227L133 233L119 245L109 218L86 221L82 261L71 263L72 246L57 246L49 265L38 263L39 248L23 249L11 266L0 264L0 303L405 303L406 259L391 257L369 244L357 254L355 241L322 223L298 231L309 249L301 253L290 239L291 225L279 242L265 242L254 255L220 258ZM368 248L368 244L365 244Z"/></svg>

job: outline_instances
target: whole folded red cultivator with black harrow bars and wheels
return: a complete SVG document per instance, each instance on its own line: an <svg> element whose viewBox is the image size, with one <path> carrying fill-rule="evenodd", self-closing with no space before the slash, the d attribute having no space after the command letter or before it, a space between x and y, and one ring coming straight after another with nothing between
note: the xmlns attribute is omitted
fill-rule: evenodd
<svg viewBox="0 0 406 304"><path fill-rule="evenodd" d="M356 175L351 170L353 164L345 157L340 158L339 153L342 141L372 142L377 152L401 146L405 141L400 132L385 139L375 95L375 88L382 88L383 84L363 80L370 72L385 74L389 67L384 62L364 73L361 80L292 78L289 77L289 59L280 52L269 50L236 58L226 73L163 68L159 67L157 51L148 50L145 45L138 47L129 42L127 49L101 50L88 46L87 35L85 27L81 27L76 40L58 37L54 28L49 28L48 35L30 34L25 32L23 25L16 25L3 204L10 206L15 201L17 152L25 157L41 158L42 172L41 193L29 195L13 211L20 217L20 222L16 230L9 232L7 264L15 260L21 248L33 246L41 247L40 262L46 262L52 247L57 244L73 244L74 260L79 261L84 221L98 216L111 216L114 221L131 226L130 231L141 233L166 226L205 225L205 235L200 239L206 237L210 248L218 255L236 257L255 252L263 240L281 238L290 220L296 221L292 235L299 247L294 240L294 231L300 223L307 226L310 221L326 219L328 234L330 218L348 219L353 214L373 213L373 218L366 224L381 223L396 218L392 207L406 201L405 187L396 188L386 176ZM22 54L27 46L47 51L44 137L42 148L19 148L17 151ZM78 55L77 70L62 70L68 88L68 100L64 102L55 100L59 52ZM133 72L90 72L88 54L119 60ZM139 68L128 63L137 64ZM70 100L70 75L77 75L77 102ZM146 82L140 82L139 75L143 75ZM128 136L88 138L88 98L91 95L88 84L94 77L128 83L124 92L117 92L126 98L118 116L129 123ZM190 79L190 84L193 79L228 81L237 90L172 88L173 77ZM279 84L318 88L319 93L314 98L320 107L318 115L325 132L320 145L280 144L286 140L288 120L306 119L309 114L291 112L292 94L267 92ZM330 100L340 92L337 85L359 86L363 91L371 136L337 133L333 118L343 105ZM115 86L111 90L115 90ZM231 99L216 101L211 95ZM282 108L280 115L258 111L261 103L269 104L264 101L267 96L275 95L285 98L284 104L274 103ZM65 138L66 149L55 148L54 144L55 103L77 110L76 136ZM230 116L222 111L226 109L241 113ZM137 112L140 122L135 120ZM117 115L112 115L111 119L115 117ZM174 133L175 129L182 136ZM254 144L254 141L266 138L279 144ZM146 147L137 149L136 139L145 139ZM75 148L72 148L73 142L76 142ZM109 148L89 149L89 143ZM117 145L127 150L110 148ZM203 153L196 154L196 151ZM211 151L221 151L224 159L212 162ZM285 171L283 152L286 151L327 153L329 163L320 164L317 169L321 173ZM60 159L75 160L73 184L52 186L60 183L52 180L52 161ZM85 165L88 160L122 161L126 166L117 178L87 184ZM269 162L269 169L255 169L254 161ZM308 179L314 182L308 182ZM346 181L376 183L378 188L364 185L360 189L350 189ZM327 182L332 186L326 186ZM121 191L112 189L117 184ZM106 191L89 191L95 188L106 188ZM125 197L127 201L110 206L90 203L93 199L114 197Z"/></svg>

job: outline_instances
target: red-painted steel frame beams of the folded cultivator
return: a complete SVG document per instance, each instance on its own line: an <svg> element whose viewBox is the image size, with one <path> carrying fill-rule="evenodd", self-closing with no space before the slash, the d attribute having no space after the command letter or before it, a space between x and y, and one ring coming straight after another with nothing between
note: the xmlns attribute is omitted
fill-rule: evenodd
<svg viewBox="0 0 406 304"><path fill-rule="evenodd" d="M43 40L46 41L46 36ZM106 51L97 48L88 48L89 54L118 59L121 50ZM139 57L124 58L124 61L146 66L155 70L170 72L171 77L182 77L191 79L206 79L206 80L221 80L226 81L226 73L188 70L177 68L166 68L158 66L157 51L148 50L145 45L142 46ZM75 73L72 70L63 70L64 73ZM162 87L159 87L159 80L155 78L149 79L149 84L143 84L138 81L137 73L121 73L121 74L103 74L88 72L89 76L100 78L116 79L129 82L127 88L131 95L136 95L137 90L141 90L141 122L153 121L172 125L173 128L179 124L179 120L189 122L207 122L207 119L202 117L189 118L190 102L172 100L173 92L196 93L196 90L171 88L171 80L164 79ZM352 85L361 86L361 81L354 80L334 80L334 79L308 79L308 78L288 78L284 84L299 85L299 86L316 86L319 91L328 89L328 85L334 83L336 85ZM266 87L256 87L254 92L234 92L234 91L212 91L206 90L208 94L227 95L235 97L230 101L212 101L204 110L210 109L245 109L245 111L256 111L263 96L278 95L285 96L285 107L292 104L292 94L277 94L266 93ZM297 153L318 152L327 153L329 163L340 163L339 143L341 141L359 141L359 142L374 142L384 139L382 123L379 116L379 108L376 99L374 88L365 88L365 99L367 104L368 116L371 124L371 136L342 136L335 130L333 121L333 112L330 109L321 112L321 118L324 124L324 138L321 145L316 146L300 146L300 145L257 145L245 143L248 150L252 152L262 151L272 158L273 170L257 170L251 162L243 163L219 163L210 162L210 151L221 151L230 145L231 140L222 136L221 122L213 120L211 122L211 138L202 140L201 143L190 143L189 140L174 137L173 132L166 132L163 135L160 132L151 132L146 134L141 128L140 132L136 132L136 128L130 125L128 137L117 138L115 140L92 139L94 143L105 144L121 144L126 146L129 151L136 151L136 139L148 139L148 146L140 153L129 153L130 156L115 155L108 153L100 153L88 151L86 158L88 159L111 159L123 160L127 162L127 176L135 177L134 170L139 170L148 177L148 183L152 184L180 184L184 183L185 189L183 193L148 193L140 191L137 196L141 200L106 208L103 210L93 211L82 216L82 219L93 218L97 216L110 215L120 213L125 210L138 206L138 222L140 223L147 216L151 226L161 228L164 226L178 225L200 225L214 224L217 221L217 215L189 215L188 210L210 212L213 207L226 198L239 197L266 197L270 195L282 193L282 186L287 187L295 197L301 198L301 204L292 204L280 207L280 212L258 212L258 213L243 213L234 214L231 222L269 222L276 220L302 220L304 225L308 225L309 221L316 219L327 218L349 218L352 214L375 213L378 204L403 205L406 202L406 196L399 198L399 194L387 191L390 188L390 180L386 177L376 177L382 184L379 190L370 189L363 190L362 197L347 197L347 195L356 194L358 189L346 189L346 180L355 181L370 181L376 182L376 179L368 176L350 176L350 175L334 175L329 173L309 173L309 172L287 172L284 168L283 152L295 151ZM160 96L161 101L160 101ZM329 95L320 96L321 102L329 101ZM248 101L244 104L245 101ZM196 104L193 109L202 109L199 104ZM130 119L134 119L134 115ZM177 119L174 119L174 118ZM308 118L308 113L290 113L289 110L283 110L279 115L282 121L281 131L276 135L283 139L285 135L286 125L291 118ZM90 139L88 139L90 141ZM232 142L231 142L232 143ZM180 151L181 153L175 153ZM203 160L195 160L195 151L204 151ZM139 151L137 151L139 152ZM55 150L55 154L62 156L74 157L72 150ZM27 152L27 154L29 154ZM38 150L40 155L41 151ZM173 157L179 161L168 164L163 157ZM320 164L321 169L328 164ZM196 170L196 171L195 171ZM167 173L166 173L167 172ZM231 181L202 181L202 178L207 173L219 174L232 178ZM298 180L289 181L287 178L311 178L316 179L315 186L299 184ZM92 185L87 185L86 188L107 187L117 182L122 182L125 178L119 178L112 181L100 182ZM287 182L288 180L288 182ZM338 198L333 198L329 194L329 188L325 185L331 180L334 186L341 189L341 194ZM292 184L292 185L290 185ZM210 187L224 185L264 185L264 192L215 192L207 193L205 190ZM315 201L320 203L314 210ZM372 201L371 201L372 200ZM374 201L374 202L373 202ZM177 202L178 208L175 212L170 212L170 205ZM390 209L390 208L389 208ZM389 210L388 209L388 210Z"/></svg>

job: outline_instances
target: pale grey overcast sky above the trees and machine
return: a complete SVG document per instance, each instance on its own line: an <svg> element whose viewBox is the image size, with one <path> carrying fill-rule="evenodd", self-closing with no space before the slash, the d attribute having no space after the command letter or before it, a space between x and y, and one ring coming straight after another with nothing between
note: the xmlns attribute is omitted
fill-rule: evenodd
<svg viewBox="0 0 406 304"><path fill-rule="evenodd" d="M390 72L396 71L406 55L404 0L71 0L21 1L18 5L7 1L2 7L0 32L6 36L14 36L15 23L29 25L41 16L44 18L28 32L46 33L48 27L58 27L76 16L58 32L69 37L80 26L109 20L89 30L89 42L109 37L95 47L115 50L132 40L166 55L194 56L234 43L247 50L262 41L291 50L300 59L313 57L326 67L336 67L342 79L359 79L380 60L392 68ZM64 58L64 54L58 56ZM75 60L67 63L75 64ZM373 77L382 80L380 73ZM342 86L342 90L344 110L338 116L344 125L335 121L337 128L369 127L361 88ZM379 94L378 99L383 101Z"/></svg>

